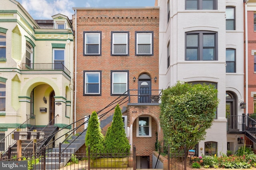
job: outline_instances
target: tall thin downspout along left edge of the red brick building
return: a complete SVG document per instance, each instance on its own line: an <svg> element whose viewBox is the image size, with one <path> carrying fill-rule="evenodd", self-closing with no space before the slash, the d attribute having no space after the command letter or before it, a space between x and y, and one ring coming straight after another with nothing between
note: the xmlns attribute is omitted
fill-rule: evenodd
<svg viewBox="0 0 256 170"><path fill-rule="evenodd" d="M75 89L74 89L74 126L76 127L76 74L77 74L77 14L75 10ZM76 134L76 130L75 130Z"/></svg>

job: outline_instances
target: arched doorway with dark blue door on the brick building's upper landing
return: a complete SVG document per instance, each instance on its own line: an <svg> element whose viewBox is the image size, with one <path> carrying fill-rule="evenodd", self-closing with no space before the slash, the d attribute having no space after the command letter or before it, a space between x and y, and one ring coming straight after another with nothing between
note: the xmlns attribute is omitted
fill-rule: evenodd
<svg viewBox="0 0 256 170"><path fill-rule="evenodd" d="M138 103L151 103L151 77L141 74L138 80Z"/></svg>

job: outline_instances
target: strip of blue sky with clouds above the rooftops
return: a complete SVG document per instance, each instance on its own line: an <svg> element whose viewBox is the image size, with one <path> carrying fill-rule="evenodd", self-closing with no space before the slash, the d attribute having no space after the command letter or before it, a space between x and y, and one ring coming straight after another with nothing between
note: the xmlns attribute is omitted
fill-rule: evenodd
<svg viewBox="0 0 256 170"><path fill-rule="evenodd" d="M52 20L63 14L72 19L72 7L139 7L154 6L155 0L16 0L34 20Z"/></svg>

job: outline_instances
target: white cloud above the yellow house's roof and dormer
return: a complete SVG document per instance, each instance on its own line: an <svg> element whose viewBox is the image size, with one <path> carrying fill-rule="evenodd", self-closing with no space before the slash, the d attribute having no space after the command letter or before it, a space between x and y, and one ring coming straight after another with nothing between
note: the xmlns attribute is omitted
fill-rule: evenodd
<svg viewBox="0 0 256 170"><path fill-rule="evenodd" d="M21 0L22 6L30 13L35 20L48 19L52 20L52 16L63 14L72 19L72 6L74 2L70 0Z"/></svg>

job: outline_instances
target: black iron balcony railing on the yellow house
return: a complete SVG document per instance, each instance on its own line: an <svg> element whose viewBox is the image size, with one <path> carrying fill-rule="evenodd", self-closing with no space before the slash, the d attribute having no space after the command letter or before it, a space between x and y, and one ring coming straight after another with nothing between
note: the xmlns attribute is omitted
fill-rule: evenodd
<svg viewBox="0 0 256 170"><path fill-rule="evenodd" d="M70 71L62 63L22 63L22 70L62 70L68 76Z"/></svg>

